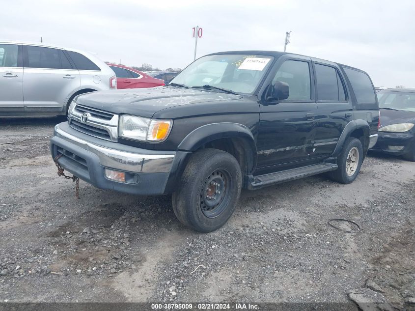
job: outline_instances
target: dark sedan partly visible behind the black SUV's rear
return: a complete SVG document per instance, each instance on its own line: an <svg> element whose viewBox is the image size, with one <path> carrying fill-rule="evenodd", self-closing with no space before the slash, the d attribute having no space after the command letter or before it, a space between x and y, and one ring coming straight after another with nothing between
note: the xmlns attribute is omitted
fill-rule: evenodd
<svg viewBox="0 0 415 311"><path fill-rule="evenodd" d="M379 138L371 149L415 161L415 88L377 93L381 113Z"/></svg>

